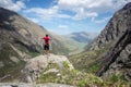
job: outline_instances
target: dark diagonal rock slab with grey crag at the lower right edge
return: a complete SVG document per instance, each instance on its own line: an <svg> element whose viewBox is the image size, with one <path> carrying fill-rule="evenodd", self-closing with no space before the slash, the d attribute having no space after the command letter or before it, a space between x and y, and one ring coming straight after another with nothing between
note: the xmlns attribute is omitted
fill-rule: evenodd
<svg viewBox="0 0 131 87"><path fill-rule="evenodd" d="M128 28L116 46L103 58L99 76L120 72L131 80L131 28Z"/></svg>

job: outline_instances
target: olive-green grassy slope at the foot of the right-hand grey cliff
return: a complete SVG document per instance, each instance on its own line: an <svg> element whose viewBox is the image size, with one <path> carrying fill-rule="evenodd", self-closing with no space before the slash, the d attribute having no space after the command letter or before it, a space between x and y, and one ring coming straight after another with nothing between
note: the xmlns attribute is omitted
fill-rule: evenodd
<svg viewBox="0 0 131 87"><path fill-rule="evenodd" d="M73 66L76 70L88 72L88 70L97 71L99 65L96 64L97 60L100 60L100 58L110 49L111 47L105 46L103 48L99 48L98 50L92 50L92 51L84 51L78 54L69 55L69 60L73 64ZM90 67L88 67L90 66ZM93 66L93 67L92 67ZM93 70L92 70L92 69ZM93 73L95 73L93 71Z"/></svg>

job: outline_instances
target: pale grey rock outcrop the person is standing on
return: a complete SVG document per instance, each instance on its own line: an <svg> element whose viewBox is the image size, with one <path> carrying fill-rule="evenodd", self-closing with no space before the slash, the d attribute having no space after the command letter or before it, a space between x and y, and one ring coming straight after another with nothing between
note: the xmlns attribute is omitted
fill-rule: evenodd
<svg viewBox="0 0 131 87"><path fill-rule="evenodd" d="M28 60L25 69L23 70L23 73L25 74L24 82L35 82L40 74L47 74L47 73L57 73L59 74L60 71L62 71L63 63L67 62L69 64L69 70L73 70L72 64L69 62L68 58L64 55L38 55L36 58L33 58ZM48 69L47 66L49 64L57 64L57 66L60 69L58 70L57 66L53 66L53 69Z"/></svg>

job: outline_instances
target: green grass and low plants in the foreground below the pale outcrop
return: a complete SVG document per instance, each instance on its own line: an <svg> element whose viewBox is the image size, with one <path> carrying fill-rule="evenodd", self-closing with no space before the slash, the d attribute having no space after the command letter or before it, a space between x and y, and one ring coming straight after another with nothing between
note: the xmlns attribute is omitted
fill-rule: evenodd
<svg viewBox="0 0 131 87"><path fill-rule="evenodd" d="M50 63L45 70L45 72L55 67L61 70L57 64ZM58 74L60 75L58 76ZM39 84L58 83L58 84L75 85L78 87L85 87L91 84L102 84L103 79L95 76L94 74L80 72L78 70L70 70L69 63L63 62L63 69L61 71L59 71L58 73L52 73L52 72L47 74L41 73L39 79L37 79L37 83Z"/></svg>

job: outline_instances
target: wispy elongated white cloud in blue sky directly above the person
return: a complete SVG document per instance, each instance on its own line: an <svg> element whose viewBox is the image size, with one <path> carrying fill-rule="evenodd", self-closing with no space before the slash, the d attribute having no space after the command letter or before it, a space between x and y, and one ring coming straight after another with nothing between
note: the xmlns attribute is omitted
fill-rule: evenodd
<svg viewBox="0 0 131 87"><path fill-rule="evenodd" d="M32 8L28 10L25 10L25 13L35 14L37 17L41 17L44 20L50 20L52 17L60 17L60 18L69 18L70 15L59 13L59 8L57 5L51 7L49 9L43 9L43 8Z"/></svg>

